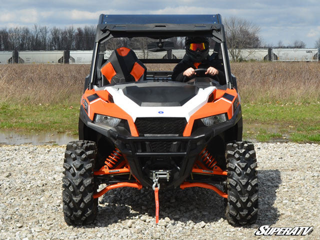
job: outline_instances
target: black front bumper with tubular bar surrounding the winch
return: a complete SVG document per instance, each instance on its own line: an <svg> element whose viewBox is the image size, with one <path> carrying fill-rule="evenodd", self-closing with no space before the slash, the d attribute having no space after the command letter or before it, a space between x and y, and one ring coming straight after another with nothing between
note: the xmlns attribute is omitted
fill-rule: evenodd
<svg viewBox="0 0 320 240"><path fill-rule="evenodd" d="M172 176L170 181L166 182L165 187L179 187L180 184L190 175L194 162L198 154L207 145L210 139L221 132L231 128L241 119L241 108L237 107L233 117L226 122L219 123L210 127L202 127L192 132L191 136L138 136L133 137L126 131L112 127L102 126L90 122L81 114L80 118L88 127L101 133L112 141L112 143L121 151L122 155L128 161L131 174L143 185L152 186L152 180L143 172L142 159L146 158L179 158L179 170ZM168 151L154 152L147 147L152 142L171 142L172 146Z"/></svg>

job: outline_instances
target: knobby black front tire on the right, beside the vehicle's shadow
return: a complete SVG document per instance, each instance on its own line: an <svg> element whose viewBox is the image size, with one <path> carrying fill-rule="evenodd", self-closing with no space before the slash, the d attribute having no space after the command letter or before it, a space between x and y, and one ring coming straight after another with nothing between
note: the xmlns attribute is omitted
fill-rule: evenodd
<svg viewBox="0 0 320 240"><path fill-rule="evenodd" d="M258 178L254 146L248 141L226 145L227 204L225 216L232 225L251 224L258 211Z"/></svg>

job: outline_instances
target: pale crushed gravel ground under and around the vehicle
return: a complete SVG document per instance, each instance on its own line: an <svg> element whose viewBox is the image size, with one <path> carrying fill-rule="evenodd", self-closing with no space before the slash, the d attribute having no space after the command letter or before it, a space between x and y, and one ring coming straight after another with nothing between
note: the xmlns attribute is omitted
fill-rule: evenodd
<svg viewBox="0 0 320 240"><path fill-rule="evenodd" d="M230 226L222 198L203 188L160 190L158 225L152 191L118 188L99 198L94 224L68 226L61 202L64 147L2 145L0 239L251 239L266 224L314 226L307 236L280 238L320 239L320 145L254 145L259 212L256 224L245 227Z"/></svg>

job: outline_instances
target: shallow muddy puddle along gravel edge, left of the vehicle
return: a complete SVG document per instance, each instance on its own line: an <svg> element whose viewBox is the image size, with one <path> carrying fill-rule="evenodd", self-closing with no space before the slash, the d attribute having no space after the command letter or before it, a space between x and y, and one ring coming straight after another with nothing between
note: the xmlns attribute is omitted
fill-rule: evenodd
<svg viewBox="0 0 320 240"><path fill-rule="evenodd" d="M16 132L0 131L0 144L58 144L64 145L69 141L77 140L77 136L67 134L36 133L21 134Z"/></svg>

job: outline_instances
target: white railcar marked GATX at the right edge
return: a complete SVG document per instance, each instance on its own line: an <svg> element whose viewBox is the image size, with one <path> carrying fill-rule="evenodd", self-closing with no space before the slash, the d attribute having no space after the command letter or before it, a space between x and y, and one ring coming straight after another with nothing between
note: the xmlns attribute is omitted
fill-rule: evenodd
<svg viewBox="0 0 320 240"><path fill-rule="evenodd" d="M317 61L316 48L273 48L272 61Z"/></svg>

